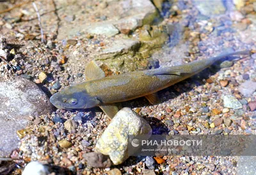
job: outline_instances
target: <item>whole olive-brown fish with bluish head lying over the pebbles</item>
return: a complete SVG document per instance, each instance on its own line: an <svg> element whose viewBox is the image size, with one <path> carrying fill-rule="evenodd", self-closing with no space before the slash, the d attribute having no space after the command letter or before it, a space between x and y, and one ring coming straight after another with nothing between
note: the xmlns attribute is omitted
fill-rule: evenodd
<svg viewBox="0 0 256 175"><path fill-rule="evenodd" d="M148 102L159 102L157 91L188 79L208 68L223 57L250 54L250 50L228 52L209 59L192 61L183 65L141 70L105 77L95 61L90 61L84 71L86 81L69 86L51 96L50 102L58 109L90 109L100 107L113 118L118 103L145 96Z"/></svg>

